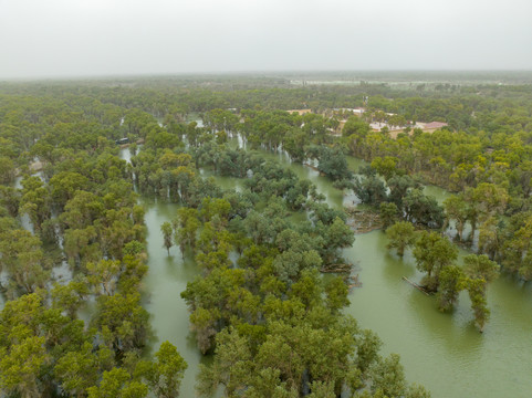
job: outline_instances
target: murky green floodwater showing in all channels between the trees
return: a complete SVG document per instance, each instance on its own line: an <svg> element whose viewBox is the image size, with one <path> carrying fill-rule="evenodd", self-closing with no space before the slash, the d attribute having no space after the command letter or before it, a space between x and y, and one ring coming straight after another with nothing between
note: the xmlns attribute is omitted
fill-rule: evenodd
<svg viewBox="0 0 532 398"><path fill-rule="evenodd" d="M300 178L316 185L333 207L352 203L331 181L313 169L291 164L283 154L264 156L290 167ZM356 170L362 160L350 158ZM234 178L217 178L223 188L237 188ZM426 192L442 201L449 193L437 187ZM182 397L194 397L195 376L202 360L188 331L188 312L179 293L198 273L190 260L182 261L178 248L167 256L159 228L171 219L176 205L143 199L148 227L149 272L144 282L146 308L158 336L178 347L189 368L181 387ZM483 334L472 325L467 294L453 314L441 314L434 297L427 297L401 280L419 280L409 253L401 261L386 248L382 231L356 235L345 256L361 271L363 287L355 289L345 310L362 327L376 332L383 353L401 357L407 379L426 386L435 398L445 397L530 397L532 390L532 289L510 276L501 276L488 291L491 318ZM460 252L467 254L466 251Z"/></svg>

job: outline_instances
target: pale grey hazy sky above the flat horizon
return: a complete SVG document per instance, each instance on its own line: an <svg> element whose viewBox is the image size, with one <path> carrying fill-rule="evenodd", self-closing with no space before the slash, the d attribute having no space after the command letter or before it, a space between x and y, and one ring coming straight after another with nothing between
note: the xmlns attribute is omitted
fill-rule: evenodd
<svg viewBox="0 0 532 398"><path fill-rule="evenodd" d="M0 78L532 70L531 0L0 0Z"/></svg>

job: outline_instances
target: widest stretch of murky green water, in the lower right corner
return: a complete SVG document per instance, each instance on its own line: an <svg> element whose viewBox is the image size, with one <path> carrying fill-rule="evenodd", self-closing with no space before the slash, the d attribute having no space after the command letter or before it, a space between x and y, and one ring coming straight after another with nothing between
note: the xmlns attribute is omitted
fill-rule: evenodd
<svg viewBox="0 0 532 398"><path fill-rule="evenodd" d="M467 294L453 314L439 313L434 297L401 280L421 277L411 256L400 261L385 244L384 233L374 231L357 235L345 251L362 268L364 284L351 294L346 313L380 336L384 353L401 356L407 378L435 398L530 397L531 289L504 276L493 282L488 290L491 320L480 334Z"/></svg>

